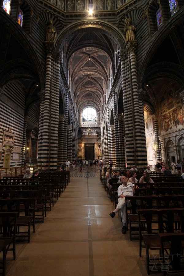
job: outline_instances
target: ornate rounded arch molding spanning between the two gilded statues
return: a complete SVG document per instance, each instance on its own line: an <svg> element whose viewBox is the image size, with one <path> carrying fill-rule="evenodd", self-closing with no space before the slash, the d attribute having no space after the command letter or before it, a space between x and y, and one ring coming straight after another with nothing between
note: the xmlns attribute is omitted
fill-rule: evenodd
<svg viewBox="0 0 184 276"><path fill-rule="evenodd" d="M74 32L84 28L100 29L102 33L108 34L111 39L115 40L120 49L126 48L125 37L116 26L103 20L83 19L67 25L67 27L58 34L56 40L56 49L60 51L63 48L66 40L69 40L73 36Z"/></svg>

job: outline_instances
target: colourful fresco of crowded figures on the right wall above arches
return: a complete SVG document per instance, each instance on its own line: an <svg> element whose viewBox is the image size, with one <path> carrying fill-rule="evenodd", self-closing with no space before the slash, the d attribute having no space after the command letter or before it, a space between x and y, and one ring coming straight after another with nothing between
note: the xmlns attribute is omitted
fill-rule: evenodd
<svg viewBox="0 0 184 276"><path fill-rule="evenodd" d="M184 105L178 95L174 98L173 91L169 91L162 97L160 109L161 134L184 129Z"/></svg>

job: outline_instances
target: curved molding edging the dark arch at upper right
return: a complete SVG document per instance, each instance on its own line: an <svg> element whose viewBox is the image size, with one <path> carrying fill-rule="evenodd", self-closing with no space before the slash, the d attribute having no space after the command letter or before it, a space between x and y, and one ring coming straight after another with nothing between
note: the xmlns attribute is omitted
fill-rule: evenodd
<svg viewBox="0 0 184 276"><path fill-rule="evenodd" d="M167 24L164 24L161 29L159 29L154 36L154 39L152 44L149 45L147 52L145 53L144 59L142 61L142 65L140 67L140 70L138 72L138 79L140 80L140 86L143 84L144 74L145 71L148 68L148 64L150 63L153 55L159 48L160 44L163 42L163 40L166 38L167 35L171 32L171 27L174 27L174 25L182 24L182 18L183 18L184 10L178 10L177 16L171 17Z"/></svg>

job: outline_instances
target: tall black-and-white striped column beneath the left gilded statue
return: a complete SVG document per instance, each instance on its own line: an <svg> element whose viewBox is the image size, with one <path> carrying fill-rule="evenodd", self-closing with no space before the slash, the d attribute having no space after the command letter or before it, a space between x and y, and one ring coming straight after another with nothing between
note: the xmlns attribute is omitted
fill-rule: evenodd
<svg viewBox="0 0 184 276"><path fill-rule="evenodd" d="M59 75L60 53L53 43L46 43L47 59L45 95L41 106L38 166L48 170L57 169L58 123L59 123Z"/></svg>

